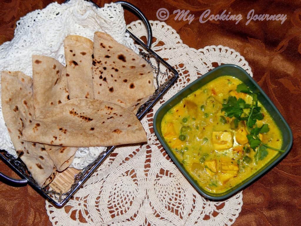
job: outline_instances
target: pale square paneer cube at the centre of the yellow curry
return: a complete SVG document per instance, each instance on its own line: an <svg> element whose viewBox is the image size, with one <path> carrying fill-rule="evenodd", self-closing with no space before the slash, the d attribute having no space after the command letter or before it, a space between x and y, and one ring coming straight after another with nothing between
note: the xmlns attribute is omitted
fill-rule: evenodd
<svg viewBox="0 0 301 226"><path fill-rule="evenodd" d="M231 132L213 131L212 143L214 149L228 149L233 146L233 135Z"/></svg>

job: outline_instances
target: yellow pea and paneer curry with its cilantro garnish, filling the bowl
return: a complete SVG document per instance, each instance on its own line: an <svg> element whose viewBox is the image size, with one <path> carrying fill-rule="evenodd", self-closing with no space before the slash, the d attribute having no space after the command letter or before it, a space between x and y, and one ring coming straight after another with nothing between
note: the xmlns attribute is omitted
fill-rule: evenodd
<svg viewBox="0 0 301 226"><path fill-rule="evenodd" d="M231 75L184 97L158 129L189 177L212 194L226 193L284 152L282 132L257 94Z"/></svg>

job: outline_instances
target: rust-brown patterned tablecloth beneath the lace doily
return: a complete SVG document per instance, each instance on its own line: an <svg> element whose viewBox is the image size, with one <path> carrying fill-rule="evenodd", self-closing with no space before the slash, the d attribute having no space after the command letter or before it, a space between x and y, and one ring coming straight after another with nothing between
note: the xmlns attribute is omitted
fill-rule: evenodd
<svg viewBox="0 0 301 226"><path fill-rule="evenodd" d="M16 21L30 11L42 9L52 1L4 0L0 3L0 44L14 36ZM63 1L58 1L62 3ZM99 6L110 1L95 1ZM159 8L169 10L165 21L180 35L185 44L195 49L208 45L223 45L235 49L249 62L254 79L275 103L293 131L290 153L271 171L244 189L244 205L237 225L301 225L301 3L293 0L152 0L130 1L149 20L158 20ZM299 2L298 4L296 2ZM174 10L190 10L195 15L188 21L174 20ZM243 20L206 22L198 18L206 9L213 14L223 10L242 14ZM280 21L253 21L245 25L251 9L257 14L287 14ZM125 13L126 22L138 18ZM215 64L214 64L215 65ZM2 161L0 171L17 177ZM0 182L0 219L2 225L51 225L45 210L45 200L30 186L10 187Z"/></svg>

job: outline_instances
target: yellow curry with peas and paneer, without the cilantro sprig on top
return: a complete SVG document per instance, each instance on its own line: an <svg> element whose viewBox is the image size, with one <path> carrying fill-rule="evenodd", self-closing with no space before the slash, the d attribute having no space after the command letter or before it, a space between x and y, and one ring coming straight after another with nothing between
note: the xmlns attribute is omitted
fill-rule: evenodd
<svg viewBox="0 0 301 226"><path fill-rule="evenodd" d="M182 99L162 119L161 131L172 152L199 186L211 193L231 189L278 153L267 149L268 155L256 163L256 152L248 148L245 123L241 121L235 128L231 123L234 118L224 117L221 112L229 96L251 104L251 96L235 91L240 83L231 76L218 77ZM270 129L259 137L263 143L280 149L282 134L266 109L260 102L258 105L264 118L256 125L265 123Z"/></svg>

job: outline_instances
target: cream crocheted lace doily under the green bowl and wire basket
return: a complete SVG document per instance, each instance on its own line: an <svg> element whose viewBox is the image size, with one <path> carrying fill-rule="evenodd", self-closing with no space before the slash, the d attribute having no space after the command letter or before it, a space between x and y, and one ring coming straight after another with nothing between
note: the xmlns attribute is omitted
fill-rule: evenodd
<svg viewBox="0 0 301 226"><path fill-rule="evenodd" d="M152 122L166 100L213 69L214 62L237 64L252 76L251 69L233 49L192 49L164 22L150 22L152 49L177 69L179 79L141 120L148 144L116 148L63 208L46 201L53 225L231 225L241 211L242 192L220 202L197 193L158 142ZM127 28L138 37L146 34L141 21ZM160 83L165 80L160 77Z"/></svg>

